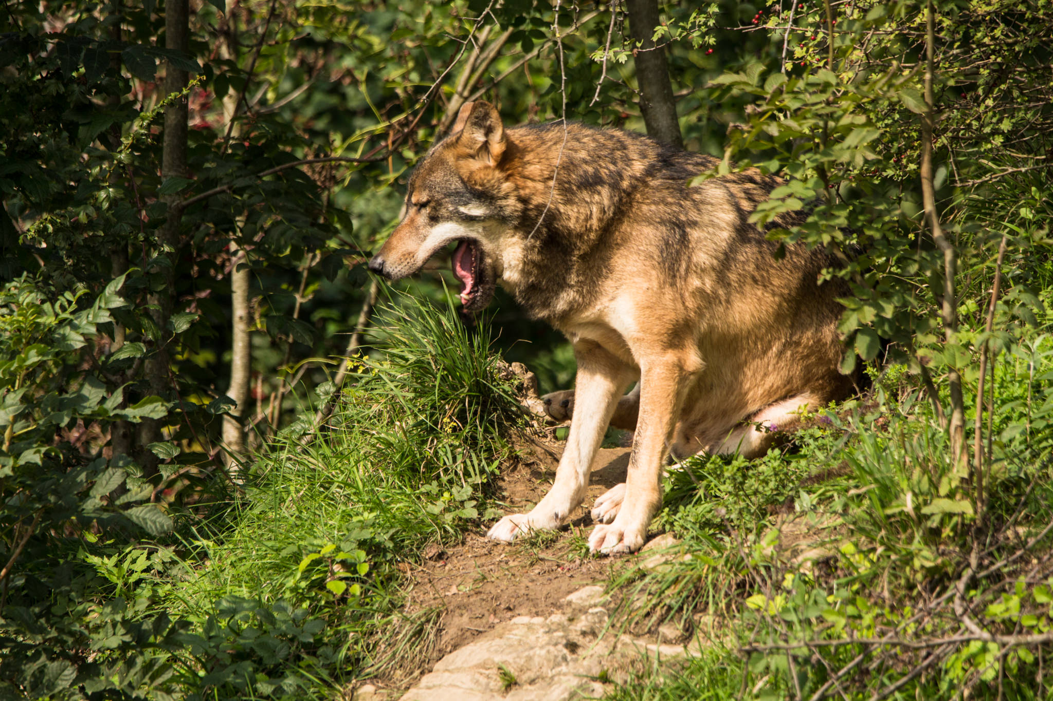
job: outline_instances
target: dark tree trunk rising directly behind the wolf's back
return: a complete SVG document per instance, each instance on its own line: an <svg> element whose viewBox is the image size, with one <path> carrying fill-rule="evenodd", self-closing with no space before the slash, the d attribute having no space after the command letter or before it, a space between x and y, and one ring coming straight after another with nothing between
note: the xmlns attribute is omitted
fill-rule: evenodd
<svg viewBox="0 0 1053 701"><path fill-rule="evenodd" d="M639 42L639 48L633 50L633 62L636 64L640 112L648 127L648 136L683 148L665 49L656 48L652 39L659 23L658 0L625 0L625 6L629 9L629 34L634 41Z"/></svg>

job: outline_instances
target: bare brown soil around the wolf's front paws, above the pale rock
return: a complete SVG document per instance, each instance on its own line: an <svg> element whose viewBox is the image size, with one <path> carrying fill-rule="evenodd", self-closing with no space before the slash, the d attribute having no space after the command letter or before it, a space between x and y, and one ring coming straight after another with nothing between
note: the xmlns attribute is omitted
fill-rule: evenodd
<svg viewBox="0 0 1053 701"><path fill-rule="evenodd" d="M530 510L552 486L561 445L521 447L520 459L501 476L506 513ZM593 463L589 496L568 530L539 533L509 545L470 534L462 543L426 553L411 571L410 610L443 610L431 664L497 623L517 616L548 616L563 598L582 586L603 583L627 558L595 557L584 536L592 524L589 510L596 497L624 481L629 450L601 450ZM426 669L421 669L425 672Z"/></svg>

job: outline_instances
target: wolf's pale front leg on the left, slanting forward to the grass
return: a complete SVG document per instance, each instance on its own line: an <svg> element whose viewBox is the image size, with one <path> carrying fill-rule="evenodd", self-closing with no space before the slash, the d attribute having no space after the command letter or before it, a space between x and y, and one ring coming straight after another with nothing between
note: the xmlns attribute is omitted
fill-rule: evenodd
<svg viewBox="0 0 1053 701"><path fill-rule="evenodd" d="M510 514L499 520L490 529L488 538L511 542L530 531L559 528L584 499L593 458L617 398L635 373L591 341L575 344L574 356L578 363L574 415L552 489L530 513Z"/></svg>

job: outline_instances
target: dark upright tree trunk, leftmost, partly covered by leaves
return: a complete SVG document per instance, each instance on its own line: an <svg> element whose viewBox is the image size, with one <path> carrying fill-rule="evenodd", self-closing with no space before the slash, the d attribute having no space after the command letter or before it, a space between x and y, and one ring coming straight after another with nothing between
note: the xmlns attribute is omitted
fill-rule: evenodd
<svg viewBox="0 0 1053 701"><path fill-rule="evenodd" d="M187 0L166 0L164 6L164 46L178 50L186 50L190 34L190 18ZM168 62L164 74L164 92L172 95L186 87L187 75ZM161 177L186 176L186 99L176 100L164 108L164 144L161 154ZM156 305L152 314L157 325L158 337L154 339L155 352L145 363L146 380L150 391L161 397L170 394L168 372L168 319L175 307L175 265L178 262L176 249L179 244L179 223L182 218L182 207L179 195L164 198L167 205L167 219L158 231L157 253L164 253L171 261L168 266L159 266L158 274L162 284L151 292L148 302ZM158 420L146 419L140 424L139 445L140 465L147 475L157 472L157 456L145 447L157 441L161 436L161 424Z"/></svg>

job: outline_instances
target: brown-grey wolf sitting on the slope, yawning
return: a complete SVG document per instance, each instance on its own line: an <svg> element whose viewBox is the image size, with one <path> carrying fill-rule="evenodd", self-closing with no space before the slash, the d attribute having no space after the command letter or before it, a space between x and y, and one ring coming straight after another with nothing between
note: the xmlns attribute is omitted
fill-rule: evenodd
<svg viewBox="0 0 1053 701"><path fill-rule="evenodd" d="M689 186L716 164L618 129L505 128L480 101L414 169L401 223L370 270L398 280L456 244L465 314L501 285L564 333L577 360L575 389L547 397L553 417L571 419L552 489L488 537L564 524L613 424L634 430L629 471L596 500L589 547L634 552L661 504L669 454L762 455L802 408L851 392L838 371L847 290L818 282L836 260L779 249L750 223L778 179L749 169Z"/></svg>

